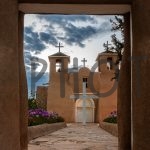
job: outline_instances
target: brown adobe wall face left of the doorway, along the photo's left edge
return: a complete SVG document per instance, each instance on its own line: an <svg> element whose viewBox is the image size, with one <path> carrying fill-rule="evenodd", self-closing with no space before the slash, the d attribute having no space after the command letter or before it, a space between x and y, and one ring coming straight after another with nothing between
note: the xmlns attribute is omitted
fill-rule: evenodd
<svg viewBox="0 0 150 150"><path fill-rule="evenodd" d="M20 150L17 0L0 1L0 149ZM26 139L25 139L26 140Z"/></svg>

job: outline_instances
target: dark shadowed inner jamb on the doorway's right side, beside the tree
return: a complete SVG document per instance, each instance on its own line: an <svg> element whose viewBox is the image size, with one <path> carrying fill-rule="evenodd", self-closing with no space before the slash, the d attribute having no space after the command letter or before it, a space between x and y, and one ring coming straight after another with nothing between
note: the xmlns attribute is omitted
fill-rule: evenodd
<svg viewBox="0 0 150 150"><path fill-rule="evenodd" d="M125 47L118 83L119 150L131 150L131 46L130 13L124 15Z"/></svg>

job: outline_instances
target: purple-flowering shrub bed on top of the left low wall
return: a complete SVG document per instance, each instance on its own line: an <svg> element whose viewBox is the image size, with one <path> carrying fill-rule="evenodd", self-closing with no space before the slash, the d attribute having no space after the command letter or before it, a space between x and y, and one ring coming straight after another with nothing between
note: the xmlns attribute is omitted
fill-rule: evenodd
<svg viewBox="0 0 150 150"><path fill-rule="evenodd" d="M56 123L63 122L64 119L56 112L47 112L43 109L30 109L28 110L28 125L34 126L43 123Z"/></svg>

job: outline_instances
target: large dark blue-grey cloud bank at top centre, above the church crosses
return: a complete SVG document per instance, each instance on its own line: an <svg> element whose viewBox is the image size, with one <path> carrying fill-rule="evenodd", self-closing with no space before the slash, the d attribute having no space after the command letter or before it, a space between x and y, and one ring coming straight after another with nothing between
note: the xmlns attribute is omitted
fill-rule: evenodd
<svg viewBox="0 0 150 150"><path fill-rule="evenodd" d="M83 48L86 40L107 33L111 28L108 19L103 19L103 23L98 26L96 17L89 15L37 15L37 18L47 23L44 25L45 31L40 33L41 40L52 45L62 41Z"/></svg>

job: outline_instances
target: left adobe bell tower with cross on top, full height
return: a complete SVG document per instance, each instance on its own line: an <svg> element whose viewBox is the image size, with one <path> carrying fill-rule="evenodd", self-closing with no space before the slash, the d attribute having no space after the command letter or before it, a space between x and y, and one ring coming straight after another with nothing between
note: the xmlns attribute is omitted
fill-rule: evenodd
<svg viewBox="0 0 150 150"><path fill-rule="evenodd" d="M74 121L74 101L70 100L72 89L68 84L70 56L60 52L49 56L50 73L47 91L47 110L57 112L66 122Z"/></svg>

